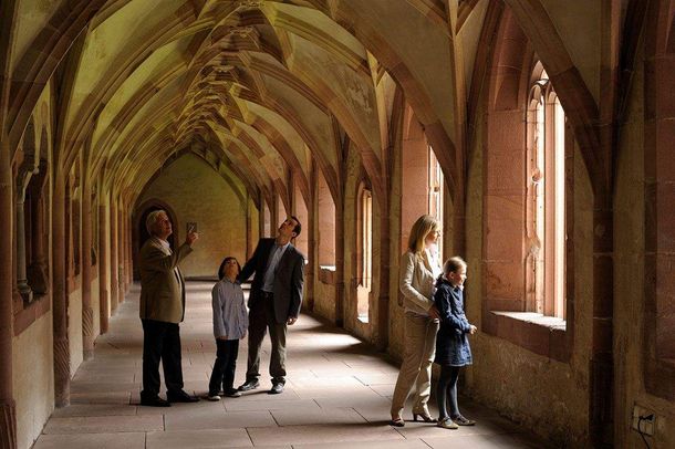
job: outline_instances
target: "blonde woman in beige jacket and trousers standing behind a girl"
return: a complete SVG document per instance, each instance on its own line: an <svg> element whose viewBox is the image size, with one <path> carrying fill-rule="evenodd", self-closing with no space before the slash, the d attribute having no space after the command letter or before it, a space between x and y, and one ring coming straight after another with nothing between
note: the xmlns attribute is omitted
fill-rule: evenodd
<svg viewBox="0 0 675 449"><path fill-rule="evenodd" d="M405 401L415 387L413 419L434 422L427 403L432 390L432 363L438 331L438 310L434 305L434 283L440 274L436 242L438 220L422 216L413 224L408 249L401 258L399 289L405 306L405 347L403 364L392 399L392 426L403 427Z"/></svg>

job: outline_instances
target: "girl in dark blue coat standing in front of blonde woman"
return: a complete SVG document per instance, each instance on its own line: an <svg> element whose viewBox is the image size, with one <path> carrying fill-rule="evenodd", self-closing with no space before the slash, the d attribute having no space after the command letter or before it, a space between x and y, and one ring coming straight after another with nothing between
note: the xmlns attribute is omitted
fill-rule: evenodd
<svg viewBox="0 0 675 449"><path fill-rule="evenodd" d="M436 336L436 362L440 365L440 378L436 388L438 398L438 427L457 429L474 426L476 421L465 418L457 406L457 378L459 368L472 363L467 334L475 334L476 326L469 324L464 314L464 282L466 262L454 257L443 267L443 274L436 282L434 303L440 315L440 328ZM449 404L450 415L447 405Z"/></svg>

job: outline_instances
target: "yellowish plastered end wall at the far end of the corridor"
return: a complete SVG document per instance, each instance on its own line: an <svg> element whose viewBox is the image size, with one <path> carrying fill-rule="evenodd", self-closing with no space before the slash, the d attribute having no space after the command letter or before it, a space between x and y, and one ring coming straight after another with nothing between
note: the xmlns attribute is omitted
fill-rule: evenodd
<svg viewBox="0 0 675 449"><path fill-rule="evenodd" d="M246 197L240 201L231 186L199 157L184 155L165 168L137 205L153 199L167 203L176 213L178 222L174 223L174 230L178 242L185 241L188 221L198 224L195 251L180 263L184 276L216 276L226 255L235 255L243 264Z"/></svg>

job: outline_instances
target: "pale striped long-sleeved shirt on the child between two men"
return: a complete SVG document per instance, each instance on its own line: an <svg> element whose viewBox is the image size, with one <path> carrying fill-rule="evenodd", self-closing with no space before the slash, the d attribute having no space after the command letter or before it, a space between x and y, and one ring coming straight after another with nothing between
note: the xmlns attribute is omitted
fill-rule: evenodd
<svg viewBox="0 0 675 449"><path fill-rule="evenodd" d="M227 336L227 340L239 340L246 334L249 317L243 301L241 286L222 278L211 291L214 307L214 336Z"/></svg>

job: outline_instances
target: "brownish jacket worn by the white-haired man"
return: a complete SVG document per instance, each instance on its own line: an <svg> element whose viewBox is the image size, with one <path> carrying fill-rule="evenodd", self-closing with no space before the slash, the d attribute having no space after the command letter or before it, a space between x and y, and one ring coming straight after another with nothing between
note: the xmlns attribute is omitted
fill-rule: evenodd
<svg viewBox="0 0 675 449"><path fill-rule="evenodd" d="M180 323L185 313L185 289L178 262L193 252L184 243L174 253L158 238L149 238L141 249L141 319Z"/></svg>

